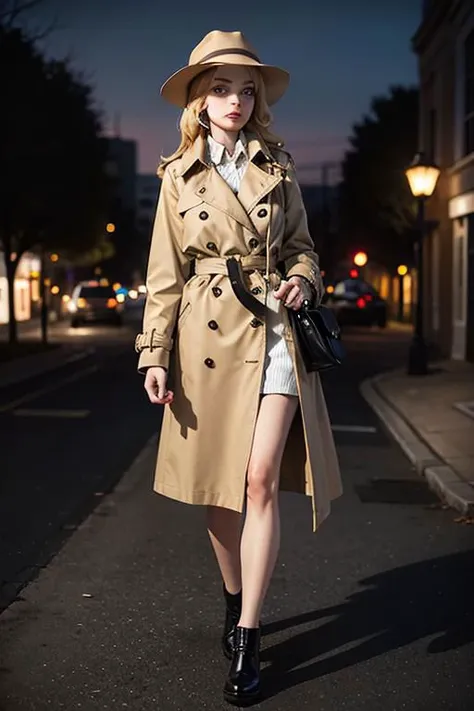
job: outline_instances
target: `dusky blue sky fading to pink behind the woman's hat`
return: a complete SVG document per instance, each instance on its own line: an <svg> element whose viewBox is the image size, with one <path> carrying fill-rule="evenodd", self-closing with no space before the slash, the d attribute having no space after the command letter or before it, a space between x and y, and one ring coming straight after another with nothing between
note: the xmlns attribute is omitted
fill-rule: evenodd
<svg viewBox="0 0 474 711"><path fill-rule="evenodd" d="M300 180L318 180L318 164L338 160L351 125L374 94L417 81L410 38L418 0L292 0L274 3L205 0L45 0L39 28L56 20L50 54L72 55L95 87L113 132L139 147L139 171L154 172L160 154L178 143L179 110L159 95L163 81L188 62L210 30L241 30L262 61L291 74L273 107L276 132L293 153Z"/></svg>

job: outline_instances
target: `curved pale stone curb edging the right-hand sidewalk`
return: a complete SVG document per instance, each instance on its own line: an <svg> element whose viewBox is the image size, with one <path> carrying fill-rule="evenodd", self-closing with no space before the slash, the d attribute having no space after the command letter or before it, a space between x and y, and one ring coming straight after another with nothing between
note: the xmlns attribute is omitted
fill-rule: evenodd
<svg viewBox="0 0 474 711"><path fill-rule="evenodd" d="M474 489L428 447L406 418L378 391L377 383L385 375L364 380L359 386L362 397L399 444L418 474L425 477L430 489L464 516L474 515Z"/></svg>

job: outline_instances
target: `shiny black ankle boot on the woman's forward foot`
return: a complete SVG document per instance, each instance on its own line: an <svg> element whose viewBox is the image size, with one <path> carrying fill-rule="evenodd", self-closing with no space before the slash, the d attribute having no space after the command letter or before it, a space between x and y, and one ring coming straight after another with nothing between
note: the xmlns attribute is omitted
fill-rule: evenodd
<svg viewBox="0 0 474 711"><path fill-rule="evenodd" d="M234 653L224 686L224 699L245 706L260 697L260 628L236 627Z"/></svg>

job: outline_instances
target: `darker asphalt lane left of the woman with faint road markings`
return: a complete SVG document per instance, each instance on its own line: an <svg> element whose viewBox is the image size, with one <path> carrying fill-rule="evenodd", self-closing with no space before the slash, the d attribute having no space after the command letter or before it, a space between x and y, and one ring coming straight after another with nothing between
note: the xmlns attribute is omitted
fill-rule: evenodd
<svg viewBox="0 0 474 711"><path fill-rule="evenodd" d="M0 607L109 492L161 423L123 329L51 329L85 360L0 389Z"/></svg>

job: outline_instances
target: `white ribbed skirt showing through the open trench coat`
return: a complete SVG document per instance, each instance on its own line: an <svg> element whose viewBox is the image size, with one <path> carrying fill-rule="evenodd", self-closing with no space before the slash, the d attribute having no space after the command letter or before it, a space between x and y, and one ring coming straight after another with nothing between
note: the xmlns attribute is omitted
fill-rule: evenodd
<svg viewBox="0 0 474 711"><path fill-rule="evenodd" d="M293 361L283 338L281 309L285 307L275 299L272 289L268 290L267 307L267 348L260 392L264 395L298 395Z"/></svg>

